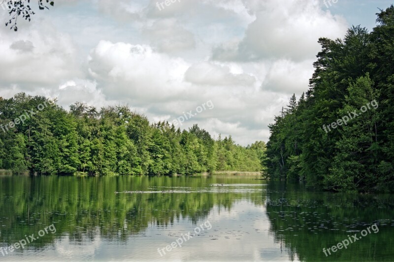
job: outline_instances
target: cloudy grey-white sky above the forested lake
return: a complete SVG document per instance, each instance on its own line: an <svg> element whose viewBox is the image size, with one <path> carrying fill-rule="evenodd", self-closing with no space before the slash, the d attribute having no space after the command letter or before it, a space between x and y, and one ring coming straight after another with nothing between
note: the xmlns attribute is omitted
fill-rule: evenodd
<svg viewBox="0 0 394 262"><path fill-rule="evenodd" d="M128 104L151 122L197 123L243 146L267 142L274 116L309 88L319 37L343 38L352 25L370 31L378 8L393 4L172 1L55 0L17 32L0 26L0 96L56 97L66 110L76 101Z"/></svg>

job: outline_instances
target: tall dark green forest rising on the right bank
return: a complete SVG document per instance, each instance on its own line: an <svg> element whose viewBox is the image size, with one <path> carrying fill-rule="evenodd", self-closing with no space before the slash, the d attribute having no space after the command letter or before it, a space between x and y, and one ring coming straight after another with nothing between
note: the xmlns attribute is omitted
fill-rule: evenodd
<svg viewBox="0 0 394 262"><path fill-rule="evenodd" d="M298 101L293 95L269 125L271 178L330 191L393 192L394 6L376 22L371 32L353 26L344 39L319 39L309 90Z"/></svg>

